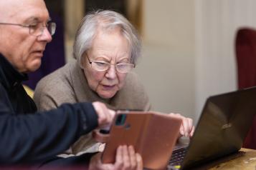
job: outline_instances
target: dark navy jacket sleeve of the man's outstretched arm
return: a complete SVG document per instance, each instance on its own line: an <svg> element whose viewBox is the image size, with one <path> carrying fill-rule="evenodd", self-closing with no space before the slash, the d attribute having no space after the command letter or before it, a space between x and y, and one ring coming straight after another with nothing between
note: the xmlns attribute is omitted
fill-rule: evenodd
<svg viewBox="0 0 256 170"><path fill-rule="evenodd" d="M0 100L0 164L36 163L60 154L82 134L98 126L90 103L16 116Z"/></svg>

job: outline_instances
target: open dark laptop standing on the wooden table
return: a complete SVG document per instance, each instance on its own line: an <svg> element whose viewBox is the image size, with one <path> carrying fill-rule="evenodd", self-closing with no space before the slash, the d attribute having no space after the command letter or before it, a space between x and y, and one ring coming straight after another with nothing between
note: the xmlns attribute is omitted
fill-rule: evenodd
<svg viewBox="0 0 256 170"><path fill-rule="evenodd" d="M191 169L238 152L256 114L256 87L210 96L180 164L168 169ZM177 150L174 149L174 154Z"/></svg>

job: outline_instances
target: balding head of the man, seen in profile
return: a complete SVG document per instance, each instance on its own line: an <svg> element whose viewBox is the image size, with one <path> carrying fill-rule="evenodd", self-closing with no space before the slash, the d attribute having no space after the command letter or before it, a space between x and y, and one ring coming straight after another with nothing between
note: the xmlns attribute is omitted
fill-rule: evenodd
<svg viewBox="0 0 256 170"><path fill-rule="evenodd" d="M39 68L45 46L52 40L45 27L48 21L44 0L0 0L0 53L19 72ZM44 29L33 36L34 28Z"/></svg>

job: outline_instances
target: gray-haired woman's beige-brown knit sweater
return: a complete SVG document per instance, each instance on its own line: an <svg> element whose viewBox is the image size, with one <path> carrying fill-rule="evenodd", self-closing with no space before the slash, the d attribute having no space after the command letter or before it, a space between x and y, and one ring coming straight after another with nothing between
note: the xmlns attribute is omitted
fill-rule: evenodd
<svg viewBox="0 0 256 170"><path fill-rule="evenodd" d="M34 101L39 111L57 108L64 103L77 103L84 101L102 101L110 109L139 109L149 110L151 105L148 100L143 85L134 73L128 73L123 89L111 99L102 99L95 91L92 91L87 84L77 61L71 61L62 68L45 76L39 83L34 92ZM87 151L96 142L91 134L81 136L75 144L71 146L68 154L78 154ZM89 151L98 151L98 146Z"/></svg>

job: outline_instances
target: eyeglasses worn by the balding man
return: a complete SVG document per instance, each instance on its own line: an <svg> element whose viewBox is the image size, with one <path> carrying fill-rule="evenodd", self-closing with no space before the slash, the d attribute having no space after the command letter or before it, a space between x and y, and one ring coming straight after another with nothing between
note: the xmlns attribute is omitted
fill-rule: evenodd
<svg viewBox="0 0 256 170"><path fill-rule="evenodd" d="M12 24L12 23L4 23L0 22L1 25L11 25L11 26L22 26L25 28L29 28L29 34L32 36L42 36L44 32L44 28L47 28L49 31L49 34L54 35L56 31L56 23L49 21L45 26L42 24L29 24L29 25L23 25L23 24Z"/></svg>

